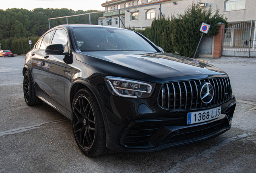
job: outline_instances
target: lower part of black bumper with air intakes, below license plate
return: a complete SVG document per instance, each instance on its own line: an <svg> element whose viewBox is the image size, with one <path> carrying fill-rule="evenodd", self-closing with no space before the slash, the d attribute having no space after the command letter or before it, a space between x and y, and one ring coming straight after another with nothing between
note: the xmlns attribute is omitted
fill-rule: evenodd
<svg viewBox="0 0 256 173"><path fill-rule="evenodd" d="M235 106L231 103L218 119L193 125L184 124L186 117L136 119L127 123L116 141L107 137L107 147L123 152L155 152L198 143L228 131Z"/></svg>

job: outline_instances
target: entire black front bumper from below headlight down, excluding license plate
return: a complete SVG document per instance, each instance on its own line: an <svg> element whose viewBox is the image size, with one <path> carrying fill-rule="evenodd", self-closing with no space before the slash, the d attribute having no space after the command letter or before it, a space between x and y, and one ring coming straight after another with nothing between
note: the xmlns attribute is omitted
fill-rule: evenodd
<svg viewBox="0 0 256 173"><path fill-rule="evenodd" d="M219 136L231 128L236 106L232 95L213 106L221 107L221 117L187 125L187 113L206 108L167 110L158 105L157 92L149 99L136 100L113 96L107 89L101 91L108 130L106 146L114 151L155 152Z"/></svg>

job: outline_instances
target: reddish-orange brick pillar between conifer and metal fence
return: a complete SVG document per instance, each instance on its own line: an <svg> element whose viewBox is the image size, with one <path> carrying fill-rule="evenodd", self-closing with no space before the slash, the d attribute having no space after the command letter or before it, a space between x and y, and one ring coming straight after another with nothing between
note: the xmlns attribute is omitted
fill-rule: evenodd
<svg viewBox="0 0 256 173"><path fill-rule="evenodd" d="M223 28L225 28L225 24L222 23L222 22L219 22L217 24L217 26L219 26L219 34L217 36L214 36L213 58L221 57L221 48L222 48L222 39L223 39Z"/></svg>

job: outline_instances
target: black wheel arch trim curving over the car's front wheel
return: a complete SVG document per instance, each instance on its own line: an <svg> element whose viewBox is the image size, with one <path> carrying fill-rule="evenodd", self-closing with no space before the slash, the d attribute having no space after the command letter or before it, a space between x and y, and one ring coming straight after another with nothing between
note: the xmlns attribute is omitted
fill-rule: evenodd
<svg viewBox="0 0 256 173"><path fill-rule="evenodd" d="M70 87L70 95L69 95L69 101L70 101L70 107L72 109L72 103L74 100L74 96L76 95L76 93L80 90L80 89L89 89L94 97L96 98L98 104L99 104L99 108L101 109L101 113L102 113L102 117L103 117L103 121L104 121L104 125L105 125L105 132L106 132L106 136L109 136L108 134L108 127L107 127L107 120L106 120L106 116L105 116L105 109L103 107L103 103L102 100L99 96L99 93L97 92L97 90L93 87L93 85L91 83L89 83L86 80L83 79L77 79L73 82L72 86ZM72 111L71 111L72 112Z"/></svg>

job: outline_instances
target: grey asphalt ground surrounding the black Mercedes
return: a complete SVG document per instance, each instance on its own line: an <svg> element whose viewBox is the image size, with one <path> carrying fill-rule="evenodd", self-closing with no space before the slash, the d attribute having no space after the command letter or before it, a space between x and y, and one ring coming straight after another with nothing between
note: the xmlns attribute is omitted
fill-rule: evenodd
<svg viewBox="0 0 256 173"><path fill-rule="evenodd" d="M227 133L157 153L86 157L76 145L70 120L46 104L25 104L24 58L0 58L0 173L256 172L256 59L231 59L205 59L228 72L239 99Z"/></svg>

